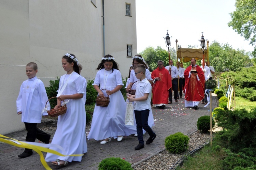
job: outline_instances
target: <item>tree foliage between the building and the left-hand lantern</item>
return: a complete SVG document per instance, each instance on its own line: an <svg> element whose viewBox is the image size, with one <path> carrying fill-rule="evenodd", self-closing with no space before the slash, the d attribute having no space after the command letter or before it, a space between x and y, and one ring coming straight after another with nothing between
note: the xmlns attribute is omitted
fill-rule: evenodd
<svg viewBox="0 0 256 170"><path fill-rule="evenodd" d="M143 59L146 61L146 63L150 67L149 70L151 72L157 68L158 60L162 60L165 66L169 65L168 51L165 49L162 49L160 46L156 47L156 49L154 49L154 47L151 47L151 46L147 47L142 52L140 52L140 55L143 57ZM170 48L170 59L172 60L176 59L176 50L174 48Z"/></svg>

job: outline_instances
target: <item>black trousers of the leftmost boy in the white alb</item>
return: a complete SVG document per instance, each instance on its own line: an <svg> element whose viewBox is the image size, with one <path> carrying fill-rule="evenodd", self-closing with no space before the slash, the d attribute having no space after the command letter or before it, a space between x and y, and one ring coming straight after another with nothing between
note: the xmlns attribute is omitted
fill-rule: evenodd
<svg viewBox="0 0 256 170"><path fill-rule="evenodd" d="M34 142L38 139L44 143L49 143L50 135L37 128L37 123L25 123L26 130L28 131L26 142ZM25 149L25 153L31 153L32 149Z"/></svg>

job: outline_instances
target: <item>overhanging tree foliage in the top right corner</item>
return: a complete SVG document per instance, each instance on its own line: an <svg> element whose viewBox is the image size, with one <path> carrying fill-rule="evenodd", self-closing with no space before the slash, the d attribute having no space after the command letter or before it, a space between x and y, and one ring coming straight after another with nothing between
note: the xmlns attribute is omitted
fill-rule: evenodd
<svg viewBox="0 0 256 170"><path fill-rule="evenodd" d="M245 40L250 40L251 45L256 42L256 1L255 0L236 0L236 11L230 13L231 21L228 26L232 27ZM253 52L256 57L256 47Z"/></svg>

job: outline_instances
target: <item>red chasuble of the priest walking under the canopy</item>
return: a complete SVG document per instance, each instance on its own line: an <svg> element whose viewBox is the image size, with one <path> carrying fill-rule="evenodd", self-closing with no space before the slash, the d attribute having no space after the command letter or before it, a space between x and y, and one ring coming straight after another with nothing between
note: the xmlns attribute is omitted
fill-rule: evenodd
<svg viewBox="0 0 256 170"><path fill-rule="evenodd" d="M191 65L188 66L184 71L185 77L185 100L198 102L204 98L204 74L202 68L198 65L193 67L194 70L197 71L197 75L200 80L197 79L197 76L191 73L190 77L189 73L191 70Z"/></svg>

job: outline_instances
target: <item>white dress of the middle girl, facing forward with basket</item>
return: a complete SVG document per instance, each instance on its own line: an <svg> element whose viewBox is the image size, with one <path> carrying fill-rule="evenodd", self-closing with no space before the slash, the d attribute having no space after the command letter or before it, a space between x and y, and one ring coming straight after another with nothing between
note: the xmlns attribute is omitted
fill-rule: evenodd
<svg viewBox="0 0 256 170"><path fill-rule="evenodd" d="M121 73L114 69L110 71L104 68L96 74L93 85L100 85L100 90L107 96L106 90L113 90L118 85L123 86ZM109 137L114 139L117 136L129 136L136 134L136 129L125 126L126 103L120 90L109 96L110 103L108 107L95 105L93 120L88 139L103 140Z"/></svg>

